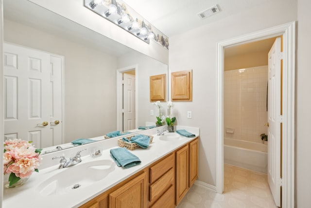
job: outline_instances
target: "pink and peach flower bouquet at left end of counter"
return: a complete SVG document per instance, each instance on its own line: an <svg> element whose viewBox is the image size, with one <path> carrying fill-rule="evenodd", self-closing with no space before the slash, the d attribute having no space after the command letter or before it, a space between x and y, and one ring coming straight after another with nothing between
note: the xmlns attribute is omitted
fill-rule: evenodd
<svg viewBox="0 0 311 208"><path fill-rule="evenodd" d="M29 177L33 171L39 171L39 155L42 149L35 149L31 143L21 139L10 139L4 142L3 173L10 174L9 186L14 185L21 178Z"/></svg>

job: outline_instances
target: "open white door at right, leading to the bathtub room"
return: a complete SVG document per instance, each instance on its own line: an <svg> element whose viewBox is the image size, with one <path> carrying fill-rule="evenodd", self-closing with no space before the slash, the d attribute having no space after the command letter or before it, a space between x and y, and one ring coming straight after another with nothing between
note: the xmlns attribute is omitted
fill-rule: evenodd
<svg viewBox="0 0 311 208"><path fill-rule="evenodd" d="M268 183L276 206L280 207L280 121L281 121L281 38L268 54Z"/></svg>

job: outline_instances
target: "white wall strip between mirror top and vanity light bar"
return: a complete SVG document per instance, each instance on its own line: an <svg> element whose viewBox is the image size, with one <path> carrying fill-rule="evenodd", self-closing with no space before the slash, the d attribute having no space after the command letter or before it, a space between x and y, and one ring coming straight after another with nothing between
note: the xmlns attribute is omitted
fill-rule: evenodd
<svg viewBox="0 0 311 208"><path fill-rule="evenodd" d="M121 27L117 27L114 23L104 19L103 17L84 7L84 0L30 1L67 19L73 20L85 26L86 28L98 32L99 34L116 40L117 42L120 42L121 44L126 45L136 51L168 64L169 51L167 49L157 44L155 41L150 41L150 44L147 44L141 39L124 31L124 29Z"/></svg>

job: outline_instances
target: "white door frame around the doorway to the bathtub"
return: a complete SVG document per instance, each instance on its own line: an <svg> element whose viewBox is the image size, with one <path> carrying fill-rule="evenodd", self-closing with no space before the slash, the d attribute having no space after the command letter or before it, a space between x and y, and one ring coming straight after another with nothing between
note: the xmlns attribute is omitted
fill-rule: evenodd
<svg viewBox="0 0 311 208"><path fill-rule="evenodd" d="M294 207L295 21L217 43L216 191L224 190L224 50L226 47L283 36L282 207Z"/></svg>

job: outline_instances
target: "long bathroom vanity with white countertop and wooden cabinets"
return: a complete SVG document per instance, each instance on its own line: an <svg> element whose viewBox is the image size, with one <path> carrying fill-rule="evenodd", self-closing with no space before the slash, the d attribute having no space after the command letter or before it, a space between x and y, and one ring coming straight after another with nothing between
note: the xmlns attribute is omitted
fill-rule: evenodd
<svg viewBox="0 0 311 208"><path fill-rule="evenodd" d="M42 155L43 169L21 187L5 189L3 206L173 208L198 177L199 129L187 129L196 134L188 138L175 132L156 135L161 128L139 132L153 135L153 142L148 149L131 151L141 164L129 169L117 167L110 157L120 137L82 145L81 150L87 149L81 152L82 162L64 169L58 169L59 161L52 157L69 157L80 151L78 147ZM102 155L91 157L89 153L98 146L104 147ZM27 200L34 197L35 202Z"/></svg>

